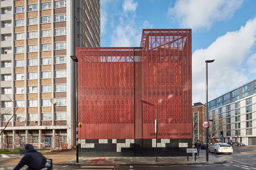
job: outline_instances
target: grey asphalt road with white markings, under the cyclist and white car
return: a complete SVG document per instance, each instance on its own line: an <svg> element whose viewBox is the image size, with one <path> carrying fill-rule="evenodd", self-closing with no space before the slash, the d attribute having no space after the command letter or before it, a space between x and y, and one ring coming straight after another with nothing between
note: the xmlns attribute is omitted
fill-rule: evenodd
<svg viewBox="0 0 256 170"><path fill-rule="evenodd" d="M200 151L203 156L205 150ZM77 166L77 165L54 165L53 170L256 170L256 146L233 147L233 153L217 154L209 153L211 156L221 157L226 160L223 164L208 165L173 165L173 166ZM12 170L14 166L0 165L0 170ZM22 168L25 170L26 168Z"/></svg>

